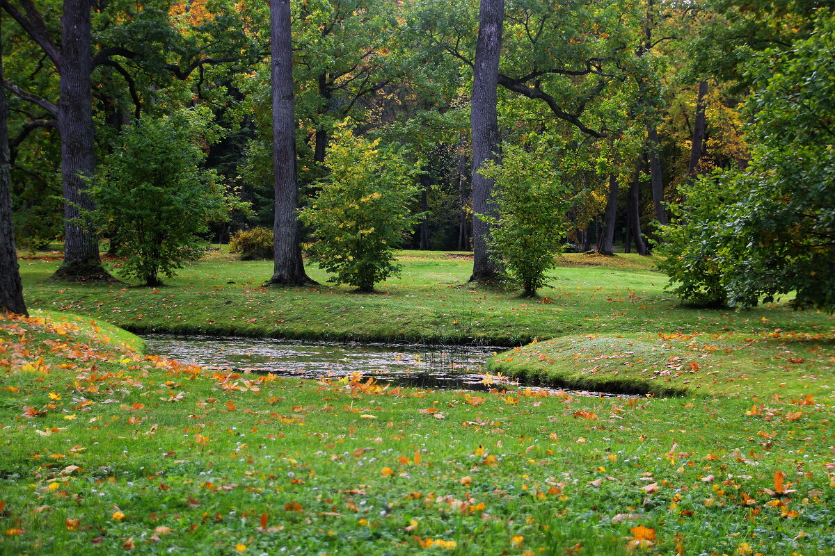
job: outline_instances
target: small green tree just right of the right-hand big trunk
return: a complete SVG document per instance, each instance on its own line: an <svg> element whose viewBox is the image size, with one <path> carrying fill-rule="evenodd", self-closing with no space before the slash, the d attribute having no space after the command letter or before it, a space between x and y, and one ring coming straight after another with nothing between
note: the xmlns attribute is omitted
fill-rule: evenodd
<svg viewBox="0 0 835 556"><path fill-rule="evenodd" d="M490 224L488 245L497 263L522 284L526 296L545 285L545 273L562 252L566 213L573 196L549 163L544 146L526 151L505 144L502 164L481 172L495 181L498 216L480 214Z"/></svg>

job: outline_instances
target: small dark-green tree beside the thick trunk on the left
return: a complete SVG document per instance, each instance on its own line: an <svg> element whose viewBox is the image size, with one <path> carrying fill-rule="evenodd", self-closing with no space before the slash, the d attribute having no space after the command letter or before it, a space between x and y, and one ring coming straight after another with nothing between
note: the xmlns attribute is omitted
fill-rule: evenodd
<svg viewBox="0 0 835 556"><path fill-rule="evenodd" d="M207 223L222 221L227 203L217 175L200 168L205 153L194 138L214 130L199 110L144 118L126 128L90 190L94 220L127 258L119 273L159 284L198 257Z"/></svg>

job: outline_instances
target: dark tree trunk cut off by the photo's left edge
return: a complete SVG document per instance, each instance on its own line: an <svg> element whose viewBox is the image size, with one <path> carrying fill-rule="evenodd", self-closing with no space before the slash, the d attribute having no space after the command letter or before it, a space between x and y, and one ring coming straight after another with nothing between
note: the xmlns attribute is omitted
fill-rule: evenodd
<svg viewBox="0 0 835 556"><path fill-rule="evenodd" d="M0 32L0 83L3 83L3 37ZM12 227L12 190L8 175L6 90L0 87L0 309L28 315L18 270Z"/></svg>

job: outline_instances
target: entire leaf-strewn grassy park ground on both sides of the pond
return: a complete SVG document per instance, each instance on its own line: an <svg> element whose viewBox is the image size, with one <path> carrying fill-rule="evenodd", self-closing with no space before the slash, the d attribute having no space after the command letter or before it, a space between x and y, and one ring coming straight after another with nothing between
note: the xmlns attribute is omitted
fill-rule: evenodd
<svg viewBox="0 0 835 556"><path fill-rule="evenodd" d="M32 317L0 321L0 553L832 553L835 319L687 308L637 256L566 256L539 298L469 286L461 253L401 261L360 295L315 268L261 288L271 263L219 252L157 289L25 258ZM230 374L110 323L491 343L493 375L639 395Z"/></svg>

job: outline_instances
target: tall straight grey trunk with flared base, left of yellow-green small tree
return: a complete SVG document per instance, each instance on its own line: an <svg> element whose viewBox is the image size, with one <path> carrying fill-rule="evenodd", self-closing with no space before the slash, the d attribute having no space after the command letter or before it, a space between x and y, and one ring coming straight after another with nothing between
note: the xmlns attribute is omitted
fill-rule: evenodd
<svg viewBox="0 0 835 556"><path fill-rule="evenodd" d="M312 283L301 260L301 233L296 210L296 107L293 99L293 61L290 0L270 0L272 79L272 167L275 173L276 217L273 224L275 262L267 284Z"/></svg>

